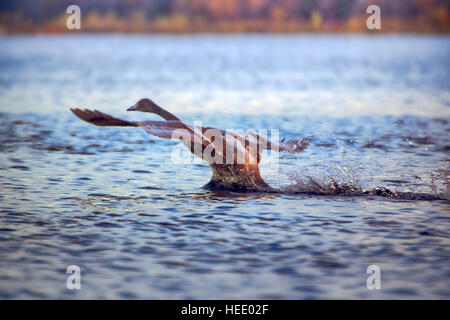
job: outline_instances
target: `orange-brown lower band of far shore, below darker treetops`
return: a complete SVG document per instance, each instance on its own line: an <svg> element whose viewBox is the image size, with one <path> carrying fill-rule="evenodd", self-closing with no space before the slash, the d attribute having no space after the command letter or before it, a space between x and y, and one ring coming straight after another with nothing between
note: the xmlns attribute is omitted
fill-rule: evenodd
<svg viewBox="0 0 450 320"><path fill-rule="evenodd" d="M369 30L365 17L353 17L347 21L314 22L308 20L233 20L215 23L198 23L188 19L158 20L135 23L129 20L107 21L103 18L81 20L80 30L69 30L66 16L43 25L22 23L19 20L0 19L0 34L73 34L73 33L121 33L121 34L450 34L450 22L439 24L416 19L385 17L381 29Z"/></svg>

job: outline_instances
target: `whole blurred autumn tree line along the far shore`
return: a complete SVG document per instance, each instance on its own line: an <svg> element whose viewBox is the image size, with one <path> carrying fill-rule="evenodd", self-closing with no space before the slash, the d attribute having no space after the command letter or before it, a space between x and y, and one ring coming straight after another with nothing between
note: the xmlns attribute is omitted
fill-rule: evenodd
<svg viewBox="0 0 450 320"><path fill-rule="evenodd" d="M449 0L2 0L0 32L69 32L72 4L83 32L368 32L371 4L384 32L450 30Z"/></svg>

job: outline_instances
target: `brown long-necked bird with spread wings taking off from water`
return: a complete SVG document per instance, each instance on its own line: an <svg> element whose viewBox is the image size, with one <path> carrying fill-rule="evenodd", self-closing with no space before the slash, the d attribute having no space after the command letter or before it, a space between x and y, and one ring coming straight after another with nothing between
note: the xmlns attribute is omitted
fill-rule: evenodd
<svg viewBox="0 0 450 320"><path fill-rule="evenodd" d="M207 189L241 192L270 192L272 189L261 178L258 164L261 151L301 152L308 146L306 139L284 142L268 140L248 130L234 133L216 128L190 126L161 108L150 99L141 99L127 111L154 113L166 121L127 121L98 110L70 109L78 118L96 126L140 127L147 133L166 139L181 140L197 157L212 168Z"/></svg>

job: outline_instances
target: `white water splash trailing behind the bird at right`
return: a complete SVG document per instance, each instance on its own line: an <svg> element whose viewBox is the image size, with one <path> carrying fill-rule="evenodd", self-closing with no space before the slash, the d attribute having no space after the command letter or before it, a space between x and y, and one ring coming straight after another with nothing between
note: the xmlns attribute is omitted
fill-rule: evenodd
<svg viewBox="0 0 450 320"><path fill-rule="evenodd" d="M277 181L277 189L282 193L305 193L314 195L345 195L345 196L379 196L403 200L450 200L450 170L438 169L434 171L431 179L411 177L402 181L402 187L408 191L396 190L384 185L364 185L372 177L364 177L363 161L360 157L360 148L355 142L339 139L331 134L320 133L334 142L335 159L316 156L307 158L307 161L295 167L284 168L284 173ZM331 145L331 144L329 144ZM329 146L327 145L327 146ZM363 144L365 145L365 144ZM301 159L298 159L301 161ZM421 192L415 188L410 180L420 180L422 185L431 180L427 188L429 193Z"/></svg>

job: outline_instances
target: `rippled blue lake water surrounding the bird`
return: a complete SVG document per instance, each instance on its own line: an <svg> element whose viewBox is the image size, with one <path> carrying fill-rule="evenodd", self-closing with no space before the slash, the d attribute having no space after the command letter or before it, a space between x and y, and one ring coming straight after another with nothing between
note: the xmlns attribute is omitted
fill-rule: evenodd
<svg viewBox="0 0 450 320"><path fill-rule="evenodd" d="M0 298L449 299L449 50L419 36L0 38ZM171 160L177 142L69 111L156 120L125 112L142 97L310 146L263 159L279 193L213 192L206 164Z"/></svg>

